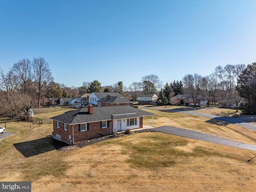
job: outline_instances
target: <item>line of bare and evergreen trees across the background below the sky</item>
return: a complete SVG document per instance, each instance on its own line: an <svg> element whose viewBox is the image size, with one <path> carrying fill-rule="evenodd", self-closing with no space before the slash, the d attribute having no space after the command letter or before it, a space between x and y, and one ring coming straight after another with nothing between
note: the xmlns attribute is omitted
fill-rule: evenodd
<svg viewBox="0 0 256 192"><path fill-rule="evenodd" d="M24 58L15 63L7 73L0 68L0 114L12 118L25 118L30 108L45 104L46 99L76 97L92 92L119 92L136 101L139 94L158 94L158 104L176 104L174 96L189 94L194 104L198 97L206 98L207 105L217 102L238 106L248 114L256 113L256 63L217 66L212 74L186 74L182 80L171 83L162 81L155 74L142 76L140 82L128 87L122 81L102 86L98 80L84 81L82 86L66 87L54 82L48 62L42 57L30 61ZM242 104L240 104L242 102Z"/></svg>

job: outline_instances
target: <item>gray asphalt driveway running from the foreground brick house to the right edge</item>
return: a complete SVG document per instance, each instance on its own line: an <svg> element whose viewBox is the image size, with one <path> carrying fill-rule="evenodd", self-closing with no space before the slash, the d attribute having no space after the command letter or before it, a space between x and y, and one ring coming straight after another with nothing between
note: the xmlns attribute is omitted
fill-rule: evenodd
<svg viewBox="0 0 256 192"><path fill-rule="evenodd" d="M201 140L201 141L212 142L212 143L216 143L216 144L256 151L256 145L236 142L236 141L221 138L218 136L201 133L198 131L192 131L192 130L188 130L188 129L176 128L176 127L171 127L171 126L161 126L161 127L156 127L156 128L152 128L152 129L159 131L159 132L164 132L164 133L177 135L177 136L181 136L181 137L197 139L197 140Z"/></svg>

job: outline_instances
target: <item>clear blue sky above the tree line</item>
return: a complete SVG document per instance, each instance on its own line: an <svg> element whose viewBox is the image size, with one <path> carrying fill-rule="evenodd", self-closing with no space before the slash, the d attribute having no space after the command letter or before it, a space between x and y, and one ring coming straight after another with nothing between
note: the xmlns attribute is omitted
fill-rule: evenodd
<svg viewBox="0 0 256 192"><path fill-rule="evenodd" d="M256 1L0 1L0 67L44 57L68 87L170 83L256 62Z"/></svg>

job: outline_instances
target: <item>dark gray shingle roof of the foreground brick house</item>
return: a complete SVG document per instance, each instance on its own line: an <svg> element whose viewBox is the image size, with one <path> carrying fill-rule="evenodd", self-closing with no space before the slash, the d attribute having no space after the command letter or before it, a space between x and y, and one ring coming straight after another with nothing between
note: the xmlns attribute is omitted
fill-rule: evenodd
<svg viewBox="0 0 256 192"><path fill-rule="evenodd" d="M81 124L88 122L126 119L151 115L154 114L137 109L132 106L94 107L93 114L89 114L88 108L84 107L78 110L68 111L64 114L52 117L50 119L64 122L67 124Z"/></svg>

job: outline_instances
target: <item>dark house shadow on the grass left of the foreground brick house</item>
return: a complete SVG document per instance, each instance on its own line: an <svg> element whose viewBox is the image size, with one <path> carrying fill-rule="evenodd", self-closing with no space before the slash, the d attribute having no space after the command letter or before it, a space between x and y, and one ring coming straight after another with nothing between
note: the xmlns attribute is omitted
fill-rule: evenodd
<svg viewBox="0 0 256 192"><path fill-rule="evenodd" d="M31 157L52 150L58 150L68 144L60 142L52 138L52 136L46 136L45 138L36 139L32 141L26 141L22 143L13 144L16 150L18 150L25 157Z"/></svg>

